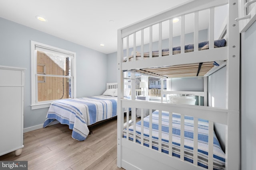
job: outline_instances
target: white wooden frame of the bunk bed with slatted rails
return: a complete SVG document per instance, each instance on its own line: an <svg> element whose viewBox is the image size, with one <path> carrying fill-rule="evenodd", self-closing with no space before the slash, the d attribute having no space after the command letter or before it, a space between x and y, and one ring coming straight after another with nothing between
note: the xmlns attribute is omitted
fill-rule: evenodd
<svg viewBox="0 0 256 170"><path fill-rule="evenodd" d="M214 7L228 4L228 18L226 25L226 47L214 48ZM209 49L204 51L198 51L194 49L193 52L184 53L184 22L182 21L184 14L194 13L198 16L198 11L210 9L209 18ZM162 21L170 20L176 16L181 16L181 53L169 56L161 56L142 60L133 60L123 62L124 59L124 42L123 39L129 35L134 35L134 47L133 51L136 51L136 32L142 31L146 27L152 27L156 23L162 23ZM225 150L225 167L226 170L238 170L240 169L240 111L239 111L239 92L240 92L240 35L238 23L235 19L238 18L238 0L194 0L187 4L182 4L176 8L166 10L160 14L146 18L132 25L128 25L118 30L118 138L117 138L117 166L130 169L172 169L172 170L198 170L204 169L197 166L197 145L194 142L194 164L184 161L184 155L181 154L180 158L174 157L171 154L162 153L161 150L150 149L150 147L140 145L135 141L129 141L128 138L123 138L124 130L124 115L123 108L131 109L131 120L127 118L126 122L136 122L136 108L150 109L150 115L152 109L158 109L162 111L170 111L175 113L182 113L184 115L198 117L209 121L209 158L208 169L213 169L213 123L220 123L226 125L226 150ZM198 44L198 19L195 17L194 28L194 44ZM172 24L172 22L170 22ZM162 24L159 24L160 29ZM162 32L159 31L159 51L161 51ZM170 31L170 37L172 37ZM143 35L143 31L142 31ZM128 38L127 38L128 39ZM171 39L171 38L170 38ZM128 41L127 41L128 42ZM143 36L142 36L143 42ZM171 42L171 41L170 41ZM142 43L143 44L143 43ZM150 37L150 50L152 50L152 36ZM129 51L127 46L126 51ZM172 43L170 43L170 49L172 49ZM143 48L141 49L143 54ZM128 52L126 53L128 57ZM134 54L134 59L136 58ZM161 102L148 102L142 100L136 100L135 96L135 74L131 77L131 99L124 99L123 89L127 78L124 78L124 70L132 70L148 67L160 67L165 66L166 63L172 63L172 65L189 64L189 63L201 63L208 61L227 61L226 63L226 108L216 108L208 106L190 106L190 105L174 105ZM163 81L162 81L163 84ZM166 92L168 94L168 92ZM143 119L143 114L141 119ZM128 127L128 123L125 124ZM143 125L142 125L143 127ZM128 128L127 128L128 129ZM181 129L182 131L182 129ZM183 129L184 131L184 129ZM182 133L181 133L182 134ZM194 129L194 135L197 135L197 130ZM181 140L184 137L181 136ZM197 139L197 136L194 136ZM161 144L161 142L160 142ZM160 145L161 146L161 145ZM159 147L160 148L160 147ZM181 147L181 152L184 149Z"/></svg>

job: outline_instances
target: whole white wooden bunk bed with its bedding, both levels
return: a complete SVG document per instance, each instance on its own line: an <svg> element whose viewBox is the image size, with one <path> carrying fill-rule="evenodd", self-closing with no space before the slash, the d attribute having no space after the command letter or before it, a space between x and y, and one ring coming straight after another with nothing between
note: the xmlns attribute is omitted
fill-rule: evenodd
<svg viewBox="0 0 256 170"><path fill-rule="evenodd" d="M216 8L225 5L228 8L226 24L219 39L214 41L214 29L217 27L214 25L214 12ZM207 41L200 43L198 16L203 10L207 10L209 14L208 37ZM185 45L185 18L191 14L194 16L194 43ZM173 47L172 20L176 17L179 17L181 22L180 46ZM171 170L240 168L240 36L235 22L237 17L237 0L194 0L118 29L118 167ZM162 47L164 22L169 23L167 49ZM158 27L158 50L153 50L152 47L152 27L155 26ZM149 41L146 51L145 32L148 29ZM220 41L223 45L216 45ZM227 70L225 108L208 106L207 92L202 94L206 100L204 106L170 103L167 100L167 96L175 92L163 89L163 79L204 76L207 82L207 76L222 66L226 66ZM131 77L125 77L124 72L131 72ZM161 78L159 102L136 100L135 73ZM123 89L128 82L131 87L131 99L125 99L123 96ZM207 88L207 85L205 87ZM130 117L124 118L125 108L131 108ZM149 115L144 117L141 114L140 121L137 121L136 109L141 109L141 112L149 109ZM225 150L220 148L216 138L215 123L225 125ZM175 131L178 133L174 133Z"/></svg>

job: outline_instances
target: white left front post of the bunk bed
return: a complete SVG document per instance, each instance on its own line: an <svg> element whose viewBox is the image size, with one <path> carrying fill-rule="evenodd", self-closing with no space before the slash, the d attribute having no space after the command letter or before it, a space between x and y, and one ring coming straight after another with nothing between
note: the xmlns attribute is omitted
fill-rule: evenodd
<svg viewBox="0 0 256 170"><path fill-rule="evenodd" d="M124 126L124 117L122 116L122 113L124 111L121 107L121 99L124 97L124 73L121 69L122 59L123 59L123 40L122 40L122 32L120 29L118 29L117 32L117 43L118 43L118 49L117 49L117 86L118 86L118 96L117 96L117 166L121 168L122 164L122 151L121 151L121 139L122 139L122 127ZM128 50L128 49L127 49Z"/></svg>

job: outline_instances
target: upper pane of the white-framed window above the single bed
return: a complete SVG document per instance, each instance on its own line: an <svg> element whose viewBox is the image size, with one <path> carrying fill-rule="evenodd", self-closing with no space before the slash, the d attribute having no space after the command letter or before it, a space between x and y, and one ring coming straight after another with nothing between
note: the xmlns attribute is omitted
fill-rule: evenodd
<svg viewBox="0 0 256 170"><path fill-rule="evenodd" d="M70 57L64 55L56 55L43 51L37 51L37 72L42 72L42 67L45 67L45 74L50 75L69 75Z"/></svg>

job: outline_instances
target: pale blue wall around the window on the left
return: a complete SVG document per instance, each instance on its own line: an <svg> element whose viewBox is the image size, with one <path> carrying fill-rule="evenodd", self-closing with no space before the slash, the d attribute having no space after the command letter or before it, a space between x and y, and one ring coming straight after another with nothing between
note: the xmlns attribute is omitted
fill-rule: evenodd
<svg viewBox="0 0 256 170"><path fill-rule="evenodd" d="M32 110L30 106L31 40L76 52L77 97L100 95L106 89L106 54L3 18L0 18L0 25L0 65L27 68L24 87L24 128L44 123L48 111L48 108Z"/></svg>

